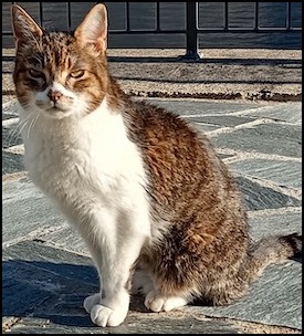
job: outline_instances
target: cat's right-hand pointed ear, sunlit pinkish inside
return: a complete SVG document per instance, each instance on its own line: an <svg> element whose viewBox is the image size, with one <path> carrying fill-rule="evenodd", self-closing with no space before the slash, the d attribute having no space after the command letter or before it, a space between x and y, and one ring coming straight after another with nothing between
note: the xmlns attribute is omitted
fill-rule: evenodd
<svg viewBox="0 0 304 336"><path fill-rule="evenodd" d="M74 35L81 45L91 44L94 52L106 51L107 12L105 6L102 3L94 6L77 27Z"/></svg>

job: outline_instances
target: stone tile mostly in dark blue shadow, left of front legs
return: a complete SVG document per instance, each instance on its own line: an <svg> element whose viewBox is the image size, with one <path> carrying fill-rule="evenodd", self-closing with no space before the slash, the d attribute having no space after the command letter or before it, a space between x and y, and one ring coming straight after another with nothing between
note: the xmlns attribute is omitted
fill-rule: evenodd
<svg viewBox="0 0 304 336"><path fill-rule="evenodd" d="M2 252L2 315L23 317L66 294L93 293L97 273L88 258L23 241Z"/></svg>

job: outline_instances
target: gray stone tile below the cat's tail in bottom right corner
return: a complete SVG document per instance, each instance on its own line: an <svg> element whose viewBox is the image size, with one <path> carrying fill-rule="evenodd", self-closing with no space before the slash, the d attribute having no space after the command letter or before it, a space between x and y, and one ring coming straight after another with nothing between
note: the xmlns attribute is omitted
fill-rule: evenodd
<svg viewBox="0 0 304 336"><path fill-rule="evenodd" d="M247 296L222 307L182 307L207 316L259 322L302 329L302 265L295 261L269 266Z"/></svg>

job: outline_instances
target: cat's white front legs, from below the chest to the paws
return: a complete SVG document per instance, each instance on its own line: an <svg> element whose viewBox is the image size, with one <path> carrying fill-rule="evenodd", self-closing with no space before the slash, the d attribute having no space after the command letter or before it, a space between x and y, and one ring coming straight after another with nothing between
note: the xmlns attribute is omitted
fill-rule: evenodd
<svg viewBox="0 0 304 336"><path fill-rule="evenodd" d="M101 279L101 292L88 296L84 307L94 324L117 326L124 322L129 307L127 284L132 266L149 238L147 216L134 211L114 216L103 209L91 216L90 223L82 224L80 231Z"/></svg>

